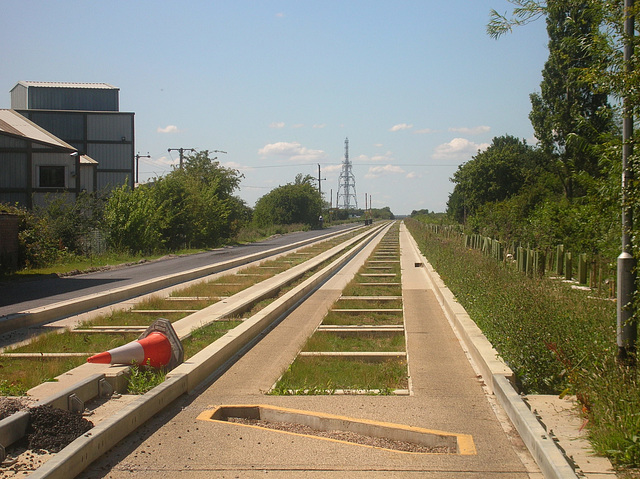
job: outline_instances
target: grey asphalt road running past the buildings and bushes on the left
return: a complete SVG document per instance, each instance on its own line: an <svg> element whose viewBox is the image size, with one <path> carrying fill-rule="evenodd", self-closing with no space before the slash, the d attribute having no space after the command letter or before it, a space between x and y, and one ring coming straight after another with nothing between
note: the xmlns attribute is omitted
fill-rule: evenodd
<svg viewBox="0 0 640 479"><path fill-rule="evenodd" d="M161 275L228 261L350 227L352 225L339 225L323 230L301 231L276 236L259 243L225 247L193 255L167 257L95 273L62 278L47 276L35 280L2 283L0 284L0 316L139 283Z"/></svg>

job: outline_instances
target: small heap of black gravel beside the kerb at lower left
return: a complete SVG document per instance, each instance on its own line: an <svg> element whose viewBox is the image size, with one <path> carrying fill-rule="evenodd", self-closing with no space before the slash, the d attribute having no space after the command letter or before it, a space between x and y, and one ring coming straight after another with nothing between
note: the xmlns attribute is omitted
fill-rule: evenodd
<svg viewBox="0 0 640 479"><path fill-rule="evenodd" d="M81 415L51 406L38 406L29 411L27 440L32 450L59 452L93 427L93 423Z"/></svg>

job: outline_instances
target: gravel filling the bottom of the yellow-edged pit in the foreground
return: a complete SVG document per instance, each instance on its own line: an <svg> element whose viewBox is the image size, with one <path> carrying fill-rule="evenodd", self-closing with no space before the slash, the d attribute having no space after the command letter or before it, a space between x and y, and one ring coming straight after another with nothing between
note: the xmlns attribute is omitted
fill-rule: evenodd
<svg viewBox="0 0 640 479"><path fill-rule="evenodd" d="M456 451L448 446L424 446L412 442L395 441L384 437L365 436L349 431L318 431L309 426L296 424L291 422L264 421L261 419L245 419L239 417L229 417L228 422L237 424L245 424L249 426L259 426L266 429L275 429L277 431L293 432L296 434L305 434L307 436L325 437L336 439L338 441L350 442L365 446L381 447L394 451L418 452L423 454L455 454Z"/></svg>

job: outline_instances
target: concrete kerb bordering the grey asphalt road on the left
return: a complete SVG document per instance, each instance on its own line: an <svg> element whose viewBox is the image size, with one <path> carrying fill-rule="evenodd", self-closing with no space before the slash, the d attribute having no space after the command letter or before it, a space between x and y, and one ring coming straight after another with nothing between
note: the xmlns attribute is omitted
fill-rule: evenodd
<svg viewBox="0 0 640 479"><path fill-rule="evenodd" d="M36 324L43 324L49 321L70 316L72 314L77 314L82 311L89 311L106 304L124 301L141 294L150 293L152 291L171 286L178 282L189 281L191 279L200 278L209 274L224 271L226 269L242 266L243 264L250 263L252 261L257 261L283 251L300 248L309 243L325 240L333 236L346 234L350 231L351 230L340 231L338 233L328 233L326 235L320 236L319 238L310 238L304 241L299 241L292 245L272 248L261 253L254 253L252 255L244 256L235 260L229 260L215 265L203 266L201 268L194 268L182 273L176 273L172 275L162 276L160 278L154 278L149 281L143 281L135 285L114 288L103 293L90 294L83 296L82 298L60 301L52 305L9 314L0 317L0 334L12 331L13 329L16 329L18 327L23 328L34 326Z"/></svg>

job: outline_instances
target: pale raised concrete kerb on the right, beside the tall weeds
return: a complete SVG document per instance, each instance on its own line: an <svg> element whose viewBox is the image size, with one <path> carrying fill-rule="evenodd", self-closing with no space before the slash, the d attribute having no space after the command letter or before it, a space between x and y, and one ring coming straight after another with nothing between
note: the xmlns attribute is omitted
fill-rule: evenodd
<svg viewBox="0 0 640 479"><path fill-rule="evenodd" d="M516 391L513 385L513 371L500 360L497 351L420 253L413 237L409 236L416 253L426 266L425 277L431 283L438 302L460 334L487 388L495 395L498 403L509 416L544 477L546 479L577 479L578 476L573 467Z"/></svg>

